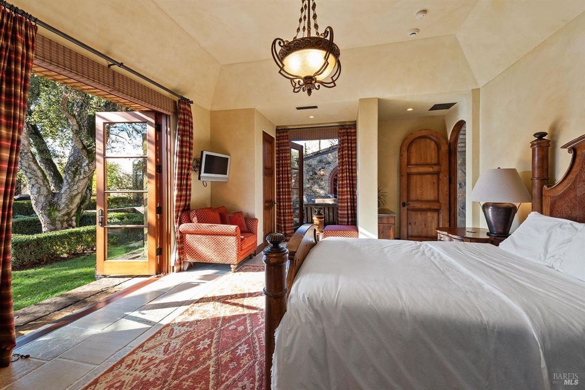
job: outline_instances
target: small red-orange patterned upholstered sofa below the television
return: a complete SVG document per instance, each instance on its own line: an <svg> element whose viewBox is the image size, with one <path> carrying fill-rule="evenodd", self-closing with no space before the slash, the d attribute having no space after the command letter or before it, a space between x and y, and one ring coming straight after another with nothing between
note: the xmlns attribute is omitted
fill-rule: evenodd
<svg viewBox="0 0 585 390"><path fill-rule="evenodd" d="M179 233L183 261L231 264L235 272L256 251L258 219L230 214L223 206L196 209L181 216Z"/></svg>

